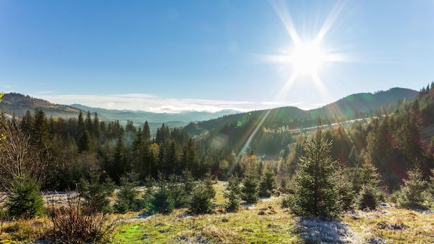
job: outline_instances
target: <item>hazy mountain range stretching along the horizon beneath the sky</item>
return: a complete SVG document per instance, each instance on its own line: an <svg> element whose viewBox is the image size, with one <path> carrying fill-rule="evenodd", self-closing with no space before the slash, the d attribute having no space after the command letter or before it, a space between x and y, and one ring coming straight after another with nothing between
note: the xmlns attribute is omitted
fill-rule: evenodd
<svg viewBox="0 0 434 244"><path fill-rule="evenodd" d="M345 116L349 114L365 113L368 111L378 110L380 108L388 109L396 105L403 99L413 99L419 92L412 89L392 88L386 92L361 93L353 94L345 98L325 105L314 110L301 110L297 107L281 107L272 110L274 116L281 116L284 119L303 119L309 116ZM26 111L33 112L35 109L44 110L47 116L63 117L65 119L76 117L80 110L84 112L98 113L101 121L119 120L121 123L126 123L127 120L133 121L134 125L143 125L144 121L148 121L151 127L158 127L162 123L166 123L169 127L179 127L187 125L191 122L203 121L201 126L207 128L209 125L216 123L227 123L243 116L246 113L240 113L234 110L223 110L216 113L211 112L182 112L179 114L168 113L153 113L144 111L131 110L106 110L98 107L87 107L85 105L57 105L31 96L24 96L17 93L9 93L3 96L3 101L0 103L0 110L6 114L15 114L23 116ZM252 113L260 113L254 111ZM207 122L209 121L209 122ZM219 122L218 122L219 121Z"/></svg>

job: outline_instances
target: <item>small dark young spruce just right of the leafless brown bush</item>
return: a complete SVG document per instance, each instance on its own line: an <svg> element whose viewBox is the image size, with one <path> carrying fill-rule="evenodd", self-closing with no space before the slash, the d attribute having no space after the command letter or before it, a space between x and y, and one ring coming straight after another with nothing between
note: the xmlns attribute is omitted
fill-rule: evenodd
<svg viewBox="0 0 434 244"><path fill-rule="evenodd" d="M121 188L116 193L117 199L113 206L116 213L125 214L131 210L139 210L139 200L136 199L139 195L139 191L136 189L139 182L136 179L137 175L134 173L121 176Z"/></svg>

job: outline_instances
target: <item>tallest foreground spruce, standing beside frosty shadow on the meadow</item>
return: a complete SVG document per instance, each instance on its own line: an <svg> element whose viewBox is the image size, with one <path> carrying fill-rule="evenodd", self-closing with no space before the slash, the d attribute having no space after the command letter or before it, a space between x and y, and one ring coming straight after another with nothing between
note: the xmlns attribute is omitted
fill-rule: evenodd
<svg viewBox="0 0 434 244"><path fill-rule="evenodd" d="M293 200L290 209L297 216L320 216L335 218L340 214L340 201L333 162L330 157L331 143L325 140L320 128L312 141L303 145L299 168L295 173Z"/></svg>

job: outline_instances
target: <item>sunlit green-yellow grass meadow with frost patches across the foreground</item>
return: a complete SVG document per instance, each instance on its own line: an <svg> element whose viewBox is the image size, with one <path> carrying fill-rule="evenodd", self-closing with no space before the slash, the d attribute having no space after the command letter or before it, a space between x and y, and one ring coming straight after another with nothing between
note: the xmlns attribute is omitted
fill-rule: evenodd
<svg viewBox="0 0 434 244"><path fill-rule="evenodd" d="M213 214L192 216L187 209L172 214L120 218L112 243L434 243L431 211L397 209L382 204L375 211L349 211L340 219L323 221L298 218L280 207L282 197L242 204L236 213L225 213L225 182L215 184ZM46 218L4 223L0 243L31 243L44 235Z"/></svg>

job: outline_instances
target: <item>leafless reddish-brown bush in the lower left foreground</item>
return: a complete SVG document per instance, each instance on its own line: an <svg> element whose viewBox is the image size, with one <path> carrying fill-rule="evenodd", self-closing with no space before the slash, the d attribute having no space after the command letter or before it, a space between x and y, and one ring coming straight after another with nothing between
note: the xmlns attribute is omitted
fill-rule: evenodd
<svg viewBox="0 0 434 244"><path fill-rule="evenodd" d="M107 243L116 221L108 214L87 211L78 195L67 193L67 201L49 207L51 227L47 233L50 243Z"/></svg>

